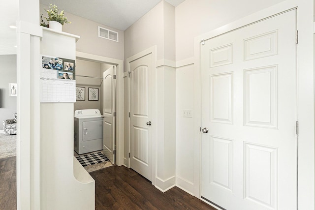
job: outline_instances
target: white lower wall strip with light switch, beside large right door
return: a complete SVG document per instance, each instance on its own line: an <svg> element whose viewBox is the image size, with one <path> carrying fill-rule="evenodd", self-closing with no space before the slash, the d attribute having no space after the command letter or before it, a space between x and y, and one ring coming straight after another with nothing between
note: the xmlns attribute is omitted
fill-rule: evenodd
<svg viewBox="0 0 315 210"><path fill-rule="evenodd" d="M176 68L176 184L193 194L193 118L184 118L183 110L193 110L193 64ZM193 115L194 116L194 113Z"/></svg>

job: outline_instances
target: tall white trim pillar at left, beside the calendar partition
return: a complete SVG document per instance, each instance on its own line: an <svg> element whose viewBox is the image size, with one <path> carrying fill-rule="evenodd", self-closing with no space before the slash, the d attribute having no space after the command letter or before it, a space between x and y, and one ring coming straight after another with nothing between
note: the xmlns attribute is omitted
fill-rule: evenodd
<svg viewBox="0 0 315 210"><path fill-rule="evenodd" d="M21 5L21 2L20 2ZM26 29L30 26L30 29ZM40 209L40 26L17 22L17 209ZM34 35L33 35L34 34ZM38 36L37 36L38 35ZM26 64L26 65L24 65ZM21 126L23 125L23 126ZM23 139L21 138L23 136Z"/></svg>

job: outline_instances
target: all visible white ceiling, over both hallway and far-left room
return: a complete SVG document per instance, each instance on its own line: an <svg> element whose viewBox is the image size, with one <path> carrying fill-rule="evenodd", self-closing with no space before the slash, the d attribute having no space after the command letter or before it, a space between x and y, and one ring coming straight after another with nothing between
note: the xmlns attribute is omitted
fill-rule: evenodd
<svg viewBox="0 0 315 210"><path fill-rule="evenodd" d="M40 0L40 3L56 4L65 12L92 20L118 30L126 30L161 0ZM166 0L177 6L184 0ZM74 3L75 2L75 3ZM16 30L18 0L5 1L0 7L0 55L16 54ZM38 17L39 18L39 17Z"/></svg>

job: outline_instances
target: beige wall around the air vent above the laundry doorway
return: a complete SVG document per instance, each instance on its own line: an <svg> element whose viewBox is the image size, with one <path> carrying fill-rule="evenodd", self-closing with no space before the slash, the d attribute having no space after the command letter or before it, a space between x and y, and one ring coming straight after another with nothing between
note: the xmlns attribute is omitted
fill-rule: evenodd
<svg viewBox="0 0 315 210"><path fill-rule="evenodd" d="M40 4L40 14L45 16L44 8L49 7ZM95 23L66 11L65 16L71 21L71 24L63 25L63 31L80 36L76 43L76 51L113 59L124 59L124 31ZM98 37L98 26L118 32L119 42Z"/></svg>

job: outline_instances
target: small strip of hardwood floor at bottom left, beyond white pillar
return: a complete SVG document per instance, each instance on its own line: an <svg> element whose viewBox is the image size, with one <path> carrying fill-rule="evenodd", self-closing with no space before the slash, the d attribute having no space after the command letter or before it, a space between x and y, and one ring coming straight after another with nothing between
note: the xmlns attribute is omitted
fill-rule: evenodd
<svg viewBox="0 0 315 210"><path fill-rule="evenodd" d="M0 159L0 210L16 210L16 156Z"/></svg>

